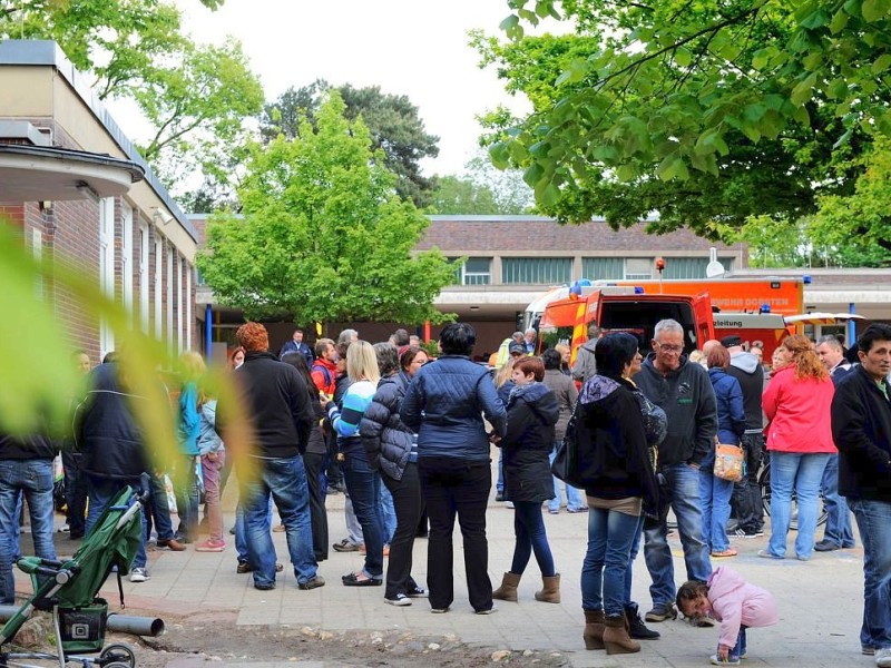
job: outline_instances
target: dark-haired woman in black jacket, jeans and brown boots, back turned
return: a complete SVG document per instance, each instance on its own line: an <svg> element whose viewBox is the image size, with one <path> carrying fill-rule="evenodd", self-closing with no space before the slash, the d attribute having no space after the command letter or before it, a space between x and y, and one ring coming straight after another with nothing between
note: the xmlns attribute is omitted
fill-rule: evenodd
<svg viewBox="0 0 891 668"><path fill-rule="evenodd" d="M640 650L625 621L625 579L644 511L657 507L640 406L628 380L637 338L609 334L595 348L597 374L579 395L576 435L588 495L588 551L581 569L585 646L609 654Z"/></svg>

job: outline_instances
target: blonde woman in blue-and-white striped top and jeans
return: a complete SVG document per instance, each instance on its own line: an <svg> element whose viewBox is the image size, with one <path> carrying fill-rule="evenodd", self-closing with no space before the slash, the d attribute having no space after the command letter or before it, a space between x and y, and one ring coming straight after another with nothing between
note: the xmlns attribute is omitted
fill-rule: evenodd
<svg viewBox="0 0 891 668"><path fill-rule="evenodd" d="M359 435L359 425L371 404L381 380L378 355L368 341L356 341L346 350L346 375L351 384L341 405L330 401L325 412L337 433L341 469L346 492L362 527L365 563L356 572L341 578L347 587L380 587L383 583L383 514L381 513L381 474L371 468Z"/></svg>

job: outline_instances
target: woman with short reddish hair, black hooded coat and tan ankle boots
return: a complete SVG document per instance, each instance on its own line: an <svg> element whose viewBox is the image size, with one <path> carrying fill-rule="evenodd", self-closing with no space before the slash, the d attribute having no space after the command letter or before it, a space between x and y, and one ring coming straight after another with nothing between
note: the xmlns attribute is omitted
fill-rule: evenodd
<svg viewBox="0 0 891 668"><path fill-rule="evenodd" d="M541 569L544 588L536 600L560 602L560 574L554 568L541 502L554 498L548 455L554 448L554 425L560 404L541 382L545 364L540 357L520 357L513 363L517 386L508 400L508 431L498 441L505 453L505 493L513 502L513 562L492 598L516 601L517 586L532 552Z"/></svg>

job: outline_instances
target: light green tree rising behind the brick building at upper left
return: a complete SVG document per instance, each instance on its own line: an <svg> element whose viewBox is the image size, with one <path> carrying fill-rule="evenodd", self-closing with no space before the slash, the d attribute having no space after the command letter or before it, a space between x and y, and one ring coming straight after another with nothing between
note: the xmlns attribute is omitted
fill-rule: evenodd
<svg viewBox="0 0 891 668"><path fill-rule="evenodd" d="M140 150L174 191L196 169L227 183L221 166L233 163L229 147L241 144L244 119L262 108L241 45L195 43L173 2L9 0L0 4L0 37L56 40L94 78L99 99L135 100L154 128Z"/></svg>

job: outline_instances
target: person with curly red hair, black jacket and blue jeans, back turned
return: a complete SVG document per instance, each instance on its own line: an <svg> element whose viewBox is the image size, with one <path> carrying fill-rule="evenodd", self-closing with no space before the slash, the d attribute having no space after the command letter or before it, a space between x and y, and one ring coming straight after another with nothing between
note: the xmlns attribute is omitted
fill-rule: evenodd
<svg viewBox="0 0 891 668"><path fill-rule="evenodd" d="M270 497L275 501L287 537L291 563L301 589L325 581L316 573L310 517L310 491L302 454L306 451L315 413L306 382L297 370L280 362L270 348L266 328L247 323L235 334L245 350L235 371L243 410L253 426L253 450L238 461L241 503L246 525L248 564L254 587L275 589L275 547L270 533ZM225 402L217 405L217 431L226 448L244 448L226 435Z"/></svg>

